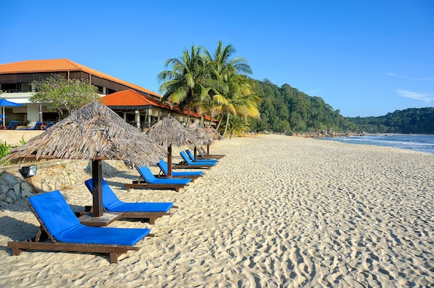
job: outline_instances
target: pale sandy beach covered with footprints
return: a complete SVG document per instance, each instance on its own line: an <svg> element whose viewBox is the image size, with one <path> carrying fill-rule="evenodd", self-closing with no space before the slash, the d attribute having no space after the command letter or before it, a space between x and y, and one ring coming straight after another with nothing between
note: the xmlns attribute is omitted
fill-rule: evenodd
<svg viewBox="0 0 434 288"><path fill-rule="evenodd" d="M155 225L111 224L158 235L118 264L12 256L7 243L38 222L25 201L1 207L0 287L434 286L433 154L279 135L217 141L211 153L227 156L180 192L127 192L136 170L105 177L124 201L179 207ZM73 210L92 204L84 183L61 192Z"/></svg>

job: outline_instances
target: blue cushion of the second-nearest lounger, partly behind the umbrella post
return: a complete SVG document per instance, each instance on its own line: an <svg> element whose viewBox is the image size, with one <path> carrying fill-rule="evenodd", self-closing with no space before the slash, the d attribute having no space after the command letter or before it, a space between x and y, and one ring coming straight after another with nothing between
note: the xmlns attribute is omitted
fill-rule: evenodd
<svg viewBox="0 0 434 288"><path fill-rule="evenodd" d="M86 180L85 184L92 193L92 179ZM123 202L103 179L103 207L109 212L167 212L172 206L173 202Z"/></svg>

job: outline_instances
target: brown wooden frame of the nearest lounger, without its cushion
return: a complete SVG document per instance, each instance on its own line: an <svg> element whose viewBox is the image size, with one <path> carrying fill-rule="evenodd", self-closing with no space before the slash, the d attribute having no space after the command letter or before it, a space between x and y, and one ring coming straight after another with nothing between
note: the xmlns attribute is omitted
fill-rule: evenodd
<svg viewBox="0 0 434 288"><path fill-rule="evenodd" d="M31 204L27 201L33 214L40 222L41 226L37 230L36 236L23 242L8 242L8 247L12 248L12 255L19 255L24 250L48 250L48 251L73 251L89 253L108 253L110 263L117 263L119 255L127 253L130 250L138 251L137 246L128 245L105 245L105 244L77 244L68 242L58 242L53 235L47 231L40 217L37 216ZM148 234L146 237L154 237L154 234ZM45 242L50 240L51 242Z"/></svg>

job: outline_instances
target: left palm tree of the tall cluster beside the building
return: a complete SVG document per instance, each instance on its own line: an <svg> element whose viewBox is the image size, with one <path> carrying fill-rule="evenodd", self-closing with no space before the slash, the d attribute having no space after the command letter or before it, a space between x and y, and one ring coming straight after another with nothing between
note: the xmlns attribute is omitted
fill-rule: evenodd
<svg viewBox="0 0 434 288"><path fill-rule="evenodd" d="M164 94L162 100L168 100L171 105L177 103L181 111L188 110L187 126L191 110L209 97L206 84L210 74L202 49L192 45L191 51L182 52L182 57L166 60L166 68L170 66L171 70L162 71L157 76L159 82L163 82L159 87L159 92Z"/></svg>

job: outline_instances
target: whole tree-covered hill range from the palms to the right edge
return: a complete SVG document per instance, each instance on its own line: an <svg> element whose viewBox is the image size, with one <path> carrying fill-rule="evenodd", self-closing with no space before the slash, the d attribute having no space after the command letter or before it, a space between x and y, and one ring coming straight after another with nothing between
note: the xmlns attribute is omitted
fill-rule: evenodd
<svg viewBox="0 0 434 288"><path fill-rule="evenodd" d="M434 134L434 107L397 110L379 117L344 117L322 98L309 96L289 84L277 87L270 80L253 80L261 98L260 119L249 119L251 131L279 133L335 132Z"/></svg>

